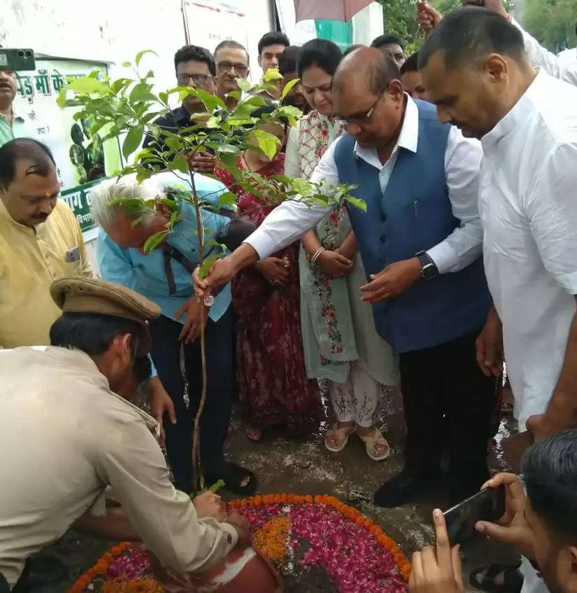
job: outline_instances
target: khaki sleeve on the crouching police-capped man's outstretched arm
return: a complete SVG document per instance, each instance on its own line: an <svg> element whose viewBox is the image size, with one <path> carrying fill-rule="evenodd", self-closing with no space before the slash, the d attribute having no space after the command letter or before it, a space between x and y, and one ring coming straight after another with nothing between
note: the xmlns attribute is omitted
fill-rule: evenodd
<svg viewBox="0 0 577 593"><path fill-rule="evenodd" d="M162 564L190 573L222 561L238 541L236 529L199 519L190 497L171 484L162 451L142 421L130 414L102 436L101 480L111 484L132 526Z"/></svg>

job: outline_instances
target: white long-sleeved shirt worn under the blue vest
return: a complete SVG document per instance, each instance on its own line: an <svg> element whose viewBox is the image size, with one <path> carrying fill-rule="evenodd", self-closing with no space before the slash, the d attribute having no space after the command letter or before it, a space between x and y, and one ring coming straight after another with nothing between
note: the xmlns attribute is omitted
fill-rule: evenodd
<svg viewBox="0 0 577 593"><path fill-rule="evenodd" d="M383 165L375 148L361 148L355 144L357 158L369 163L379 172L380 187L383 194L397 162L399 148L415 153L419 136L419 113L417 104L406 96L407 105L401 133L391 156ZM339 183L339 171L334 162L336 139L323 155L315 168L311 181L325 181L328 186ZM466 139L460 130L452 127L449 132L445 153L445 173L449 199L453 214L461 221L443 242L429 249L427 253L434 260L441 274L457 272L473 263L481 254L483 228L480 224L477 206L478 172L483 152L480 143ZM313 228L330 209L323 206L308 208L305 204L290 200L280 204L266 217L264 223L246 239L259 257L265 258L271 253L290 245Z"/></svg>

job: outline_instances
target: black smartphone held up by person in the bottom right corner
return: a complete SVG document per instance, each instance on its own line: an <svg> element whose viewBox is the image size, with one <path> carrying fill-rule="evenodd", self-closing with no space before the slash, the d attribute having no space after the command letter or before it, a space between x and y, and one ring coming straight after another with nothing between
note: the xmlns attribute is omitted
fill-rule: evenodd
<svg viewBox="0 0 577 593"><path fill-rule="evenodd" d="M505 514L505 487L485 488L443 512L451 545L463 543L477 521L495 522Z"/></svg>

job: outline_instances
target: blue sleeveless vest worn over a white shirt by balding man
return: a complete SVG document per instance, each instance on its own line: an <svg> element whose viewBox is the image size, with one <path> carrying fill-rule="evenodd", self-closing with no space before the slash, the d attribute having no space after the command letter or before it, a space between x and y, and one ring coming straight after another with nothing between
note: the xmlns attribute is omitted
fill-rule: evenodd
<svg viewBox="0 0 577 593"><path fill-rule="evenodd" d="M459 225L445 181L450 126L439 123L434 106L416 103L417 152L399 148L384 195L378 169L355 155L355 139L344 135L334 153L340 182L356 183L352 194L366 202L366 212L349 207L348 213L367 276L431 249ZM398 352L408 352L478 330L490 302L480 257L460 272L417 281L396 298L376 303L373 317L378 334Z"/></svg>

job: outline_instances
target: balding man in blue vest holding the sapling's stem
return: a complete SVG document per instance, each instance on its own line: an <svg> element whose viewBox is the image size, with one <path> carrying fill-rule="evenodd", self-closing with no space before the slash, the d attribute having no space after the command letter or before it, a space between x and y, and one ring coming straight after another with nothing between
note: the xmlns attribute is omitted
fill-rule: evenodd
<svg viewBox="0 0 577 593"><path fill-rule="evenodd" d="M490 307L477 209L480 145L439 123L432 105L408 97L397 66L373 48L343 59L333 100L348 134L311 179L355 183L352 193L366 202L366 212L349 208L370 279L359 298L371 303L378 333L399 352L408 427L405 468L375 501L397 506L430 488L447 443L457 500L488 476L494 404L494 382L478 367L475 348ZM285 202L206 279L194 274L197 293L290 244L326 213Z"/></svg>

